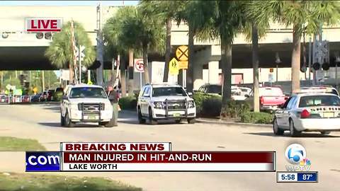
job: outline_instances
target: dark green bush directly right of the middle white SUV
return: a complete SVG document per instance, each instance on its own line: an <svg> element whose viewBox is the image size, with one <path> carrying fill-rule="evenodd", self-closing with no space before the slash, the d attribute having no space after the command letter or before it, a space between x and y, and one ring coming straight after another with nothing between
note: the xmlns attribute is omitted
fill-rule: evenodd
<svg viewBox="0 0 340 191"><path fill-rule="evenodd" d="M197 115L218 116L221 112L222 97L206 93L194 93Z"/></svg>

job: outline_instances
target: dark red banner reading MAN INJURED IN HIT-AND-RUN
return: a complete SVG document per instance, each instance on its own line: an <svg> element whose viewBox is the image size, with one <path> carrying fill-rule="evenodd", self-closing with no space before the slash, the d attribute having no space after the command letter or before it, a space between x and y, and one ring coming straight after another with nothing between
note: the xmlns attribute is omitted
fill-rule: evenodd
<svg viewBox="0 0 340 191"><path fill-rule="evenodd" d="M64 152L64 163L273 163L275 152Z"/></svg>

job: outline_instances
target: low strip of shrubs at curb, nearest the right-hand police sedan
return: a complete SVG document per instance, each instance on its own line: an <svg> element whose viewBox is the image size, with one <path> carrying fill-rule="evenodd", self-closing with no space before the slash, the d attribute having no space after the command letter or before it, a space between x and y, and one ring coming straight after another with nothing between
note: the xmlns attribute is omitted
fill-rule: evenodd
<svg viewBox="0 0 340 191"><path fill-rule="evenodd" d="M268 112L244 112L240 115L241 122L271 124L273 122L273 114Z"/></svg>

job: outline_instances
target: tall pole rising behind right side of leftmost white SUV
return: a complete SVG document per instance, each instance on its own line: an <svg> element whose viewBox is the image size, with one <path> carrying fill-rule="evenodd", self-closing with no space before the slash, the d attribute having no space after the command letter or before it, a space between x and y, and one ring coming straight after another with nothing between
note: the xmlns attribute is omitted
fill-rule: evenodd
<svg viewBox="0 0 340 191"><path fill-rule="evenodd" d="M97 60L100 63L98 69L96 69L97 74L97 84L99 86L103 86L103 31L102 31L102 11L101 11L101 3L97 6Z"/></svg>

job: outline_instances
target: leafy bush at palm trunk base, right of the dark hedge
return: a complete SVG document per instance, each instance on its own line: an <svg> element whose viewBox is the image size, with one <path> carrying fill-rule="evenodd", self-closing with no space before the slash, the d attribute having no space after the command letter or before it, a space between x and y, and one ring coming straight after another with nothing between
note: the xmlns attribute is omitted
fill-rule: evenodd
<svg viewBox="0 0 340 191"><path fill-rule="evenodd" d="M244 112L250 111L250 105L243 100L231 100L227 103L225 108L222 108L223 117L240 117Z"/></svg>

